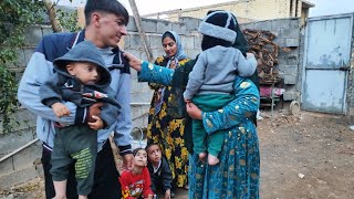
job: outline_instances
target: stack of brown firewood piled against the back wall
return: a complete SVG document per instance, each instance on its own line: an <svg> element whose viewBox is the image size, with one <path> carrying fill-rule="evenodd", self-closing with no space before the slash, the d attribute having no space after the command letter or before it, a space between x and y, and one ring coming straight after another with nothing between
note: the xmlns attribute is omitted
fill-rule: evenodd
<svg viewBox="0 0 354 199"><path fill-rule="evenodd" d="M279 50L289 52L289 48L282 48L273 42L275 34L264 30L243 30L249 44L249 52L256 55L258 61L258 75L261 84L272 84L281 80L278 70Z"/></svg>

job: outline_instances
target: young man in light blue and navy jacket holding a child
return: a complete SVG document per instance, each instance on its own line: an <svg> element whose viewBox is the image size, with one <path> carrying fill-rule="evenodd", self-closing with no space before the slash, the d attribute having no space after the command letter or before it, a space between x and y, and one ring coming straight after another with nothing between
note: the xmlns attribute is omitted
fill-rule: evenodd
<svg viewBox="0 0 354 199"><path fill-rule="evenodd" d="M124 167L131 169L133 155L129 136L131 119L131 76L129 65L118 49L118 42L126 35L128 13L116 0L88 0L85 6L86 28L79 33L54 33L43 38L32 54L20 82L18 98L28 109L38 115L37 135L43 143L42 165L45 179L46 198L55 196L51 169L51 150L54 138L54 123L73 125L93 121L93 115L100 116L102 103L96 103L87 108L76 107L73 103L66 102L70 116L58 118L53 111L41 103L39 96L40 86L53 75L53 60L64 55L77 43L88 40L101 51L105 66L112 75L111 87L116 92L116 100L122 106L116 122L107 129L98 130L94 185L88 198L119 198L121 186L118 172L115 168L114 158L108 135L115 133L115 143L123 156ZM77 198L74 165L70 166L67 177L67 198Z"/></svg>

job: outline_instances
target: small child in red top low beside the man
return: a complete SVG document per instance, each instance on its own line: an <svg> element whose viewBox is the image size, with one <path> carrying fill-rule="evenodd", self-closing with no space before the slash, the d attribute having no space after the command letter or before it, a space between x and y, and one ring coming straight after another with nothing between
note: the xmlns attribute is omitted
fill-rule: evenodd
<svg viewBox="0 0 354 199"><path fill-rule="evenodd" d="M142 197L153 199L154 192L150 189L150 175L146 167L146 150L144 148L136 148L133 150L133 170L124 170L119 177L123 199Z"/></svg>

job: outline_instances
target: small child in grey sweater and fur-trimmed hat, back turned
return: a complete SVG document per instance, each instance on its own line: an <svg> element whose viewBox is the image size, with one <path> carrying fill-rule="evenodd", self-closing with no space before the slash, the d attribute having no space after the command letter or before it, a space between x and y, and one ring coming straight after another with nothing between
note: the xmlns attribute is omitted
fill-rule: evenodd
<svg viewBox="0 0 354 199"><path fill-rule="evenodd" d="M232 48L236 33L236 19L228 11L209 13L200 23L202 34L200 53L184 93L187 105L190 101L201 111L211 112L226 106L233 100L233 81L237 73L240 76L251 76L257 67L254 55L242 53ZM208 154L208 164L219 163L226 130L207 135L201 121L192 121L194 151L199 159L205 160Z"/></svg>

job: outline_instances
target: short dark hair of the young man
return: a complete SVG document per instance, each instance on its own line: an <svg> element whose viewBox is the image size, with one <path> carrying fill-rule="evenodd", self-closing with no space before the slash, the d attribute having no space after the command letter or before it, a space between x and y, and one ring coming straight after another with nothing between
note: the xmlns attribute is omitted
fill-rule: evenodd
<svg viewBox="0 0 354 199"><path fill-rule="evenodd" d="M91 14L95 11L113 13L115 15L123 15L125 19L125 25L129 22L129 14L125 7L117 0L87 0L85 6L85 21L86 25L91 22Z"/></svg>

